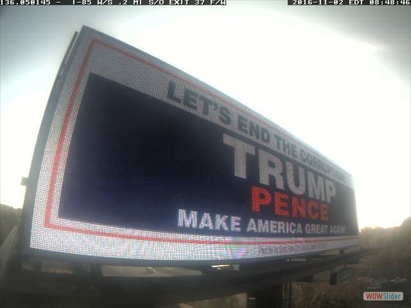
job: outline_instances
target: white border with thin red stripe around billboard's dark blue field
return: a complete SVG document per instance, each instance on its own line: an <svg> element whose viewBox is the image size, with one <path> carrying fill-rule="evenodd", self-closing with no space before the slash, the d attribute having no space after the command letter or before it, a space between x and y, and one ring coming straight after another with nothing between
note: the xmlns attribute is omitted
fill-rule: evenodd
<svg viewBox="0 0 411 308"><path fill-rule="evenodd" d="M38 189L35 192L29 242L31 248L104 258L202 261L310 254L358 245L357 236L319 238L202 236L105 226L59 218L60 194L68 149L90 73L103 76L177 108L195 113L217 125L222 125L216 117L213 118L213 115L206 117L200 112L196 113L195 110L168 99L166 93L169 80L178 81L177 87L180 90L184 86L194 88L204 95L218 100L219 103L226 104L230 109L234 108L237 112L264 123L285 139L297 142L302 148L323 158L312 148L296 141L282 128L269 123L260 115L212 87L193 78L188 80L189 77L185 73L154 60L153 57L137 49L125 47L124 44L100 35L96 31L87 28L84 31L60 93L48 132ZM163 96L161 96L162 94ZM62 114L64 117L61 116ZM236 117L233 117L231 127L224 127L238 133L235 130L236 124ZM245 137L251 139L249 136ZM257 139L252 140L261 143ZM284 155L284 153L282 154ZM323 159L329 162L329 160ZM348 179L343 184L352 188L351 177L345 171L341 171ZM264 246L272 246L277 249L273 249L271 255L261 255L261 247Z"/></svg>

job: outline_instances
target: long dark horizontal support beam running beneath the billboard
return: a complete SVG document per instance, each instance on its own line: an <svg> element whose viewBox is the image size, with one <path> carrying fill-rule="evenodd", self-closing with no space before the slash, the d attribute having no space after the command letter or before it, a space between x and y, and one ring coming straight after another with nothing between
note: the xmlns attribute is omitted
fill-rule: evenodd
<svg viewBox="0 0 411 308"><path fill-rule="evenodd" d="M278 265L273 262L271 266L263 263L259 267L253 264L249 268L241 266L240 271L218 271L199 276L96 277L90 273L68 275L20 270L8 275L9 280L2 286L7 291L4 292L4 300L8 301L13 300L10 299L11 296L24 297L23 295L27 295L28 292L30 296L38 297L48 294L50 298L54 296L60 301L64 298L76 298L79 304L90 301L97 306L116 305L119 300L124 301L124 305L147 305L173 304L249 293L250 304L254 298L254 303L256 300L260 303L273 300L278 305L282 303L287 306L288 298L291 296L291 284L286 286L288 290L282 288L283 293L279 292L278 286L377 252L378 249L362 249L343 256L334 255L310 262L278 262ZM79 285L79 288L76 288L76 285ZM270 296L273 290L275 298Z"/></svg>

